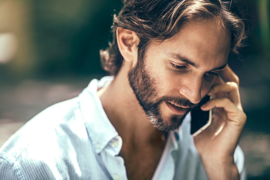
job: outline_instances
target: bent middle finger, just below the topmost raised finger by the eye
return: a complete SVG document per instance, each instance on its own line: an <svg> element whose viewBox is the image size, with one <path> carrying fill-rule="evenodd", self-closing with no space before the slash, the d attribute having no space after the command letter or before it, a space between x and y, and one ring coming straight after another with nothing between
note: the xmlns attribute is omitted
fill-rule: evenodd
<svg viewBox="0 0 270 180"><path fill-rule="evenodd" d="M208 95L214 95L216 93L223 92L227 94L227 97L235 104L241 105L240 94L238 85L235 82L226 82L223 84L216 84L211 88Z"/></svg>

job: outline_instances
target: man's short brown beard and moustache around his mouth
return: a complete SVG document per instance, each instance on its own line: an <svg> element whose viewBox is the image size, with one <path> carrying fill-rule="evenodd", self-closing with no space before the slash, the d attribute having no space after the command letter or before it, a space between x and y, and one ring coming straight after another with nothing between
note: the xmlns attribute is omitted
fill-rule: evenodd
<svg viewBox="0 0 270 180"><path fill-rule="evenodd" d="M195 105L189 100L181 97L161 96L158 95L159 83L153 75L147 71L144 58L138 57L138 62L128 73L128 80L137 100L145 111L147 118L152 122L154 127L161 131L169 132L178 129L182 124L188 110L184 115L174 114L171 117L162 117L160 105L162 102L171 102L180 106L194 107ZM190 108L191 109L191 108Z"/></svg>

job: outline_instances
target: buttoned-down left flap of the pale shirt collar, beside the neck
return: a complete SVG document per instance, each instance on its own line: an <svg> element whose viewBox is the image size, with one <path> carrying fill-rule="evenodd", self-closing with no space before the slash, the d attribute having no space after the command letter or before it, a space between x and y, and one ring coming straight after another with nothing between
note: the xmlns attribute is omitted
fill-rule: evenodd
<svg viewBox="0 0 270 180"><path fill-rule="evenodd" d="M94 79L79 95L81 114L96 153L100 153L113 138L118 136L97 95L97 89L110 83L112 80L112 76L106 76L100 81Z"/></svg>

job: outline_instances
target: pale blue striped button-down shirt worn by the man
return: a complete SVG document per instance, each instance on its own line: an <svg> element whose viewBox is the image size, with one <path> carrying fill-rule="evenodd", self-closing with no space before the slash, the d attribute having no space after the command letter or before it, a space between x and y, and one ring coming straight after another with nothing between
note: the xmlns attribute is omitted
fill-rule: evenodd
<svg viewBox="0 0 270 180"><path fill-rule="evenodd" d="M0 180L125 180L122 139L108 120L92 80L76 98L55 104L19 129L0 149ZM170 132L153 180L207 179L189 134L190 115ZM244 179L243 153L236 164Z"/></svg>

